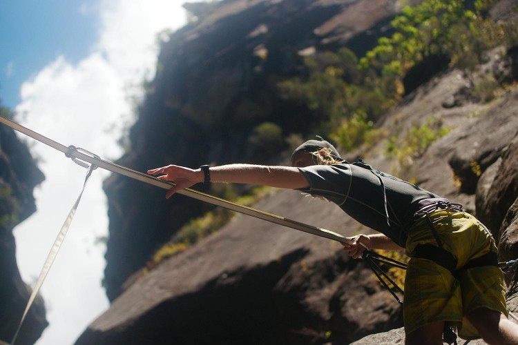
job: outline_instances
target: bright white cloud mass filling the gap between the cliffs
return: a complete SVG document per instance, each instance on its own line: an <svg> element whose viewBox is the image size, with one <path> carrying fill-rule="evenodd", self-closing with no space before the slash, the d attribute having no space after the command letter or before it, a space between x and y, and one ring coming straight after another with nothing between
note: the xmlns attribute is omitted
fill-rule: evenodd
<svg viewBox="0 0 518 345"><path fill-rule="evenodd" d="M85 148L106 159L118 157L122 153L116 144L121 127L118 124L131 119L127 87L153 77L156 34L185 23L182 3L106 0L99 6L78 9L87 13L99 8L102 26L98 43L77 65L58 57L23 83L17 119L66 146ZM35 190L37 213L15 228L17 260L26 282L35 281L39 275L86 173L57 150L44 144L30 145L33 154L43 159L40 168L46 181ZM100 286L105 248L95 244L97 237L107 235L108 229L102 192L106 176L107 172L97 169L90 177L63 247L41 288L49 306L50 326L38 345L73 344L108 307Z"/></svg>

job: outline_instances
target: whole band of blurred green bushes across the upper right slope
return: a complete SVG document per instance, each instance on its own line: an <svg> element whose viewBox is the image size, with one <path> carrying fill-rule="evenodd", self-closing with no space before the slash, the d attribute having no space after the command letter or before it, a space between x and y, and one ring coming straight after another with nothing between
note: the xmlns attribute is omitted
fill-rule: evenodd
<svg viewBox="0 0 518 345"><path fill-rule="evenodd" d="M405 6L391 22L392 36L381 37L361 59L347 48L305 57L300 77L278 83L280 97L305 105L320 119L319 134L332 137L343 150L370 140L373 122L401 99L403 78L425 59L450 61L471 82L475 99L490 101L497 91L495 78L476 82L473 72L488 49L518 43L516 16L499 23L488 17L495 2L425 0Z"/></svg>

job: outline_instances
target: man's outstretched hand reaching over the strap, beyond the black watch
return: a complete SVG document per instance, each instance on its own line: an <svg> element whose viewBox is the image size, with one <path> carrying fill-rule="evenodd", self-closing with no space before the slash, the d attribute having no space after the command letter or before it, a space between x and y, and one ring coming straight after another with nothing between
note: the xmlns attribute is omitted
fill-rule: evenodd
<svg viewBox="0 0 518 345"><path fill-rule="evenodd" d="M175 186L173 186L166 193L166 198L169 199L171 195L178 192L178 190L182 190L185 188L189 188L193 186L193 184L198 184L203 182L204 175L201 169L193 170L189 168L184 168L183 166L162 166L162 168L155 168L148 170L148 174L151 175L160 175L157 179L162 179L164 181L173 181Z"/></svg>

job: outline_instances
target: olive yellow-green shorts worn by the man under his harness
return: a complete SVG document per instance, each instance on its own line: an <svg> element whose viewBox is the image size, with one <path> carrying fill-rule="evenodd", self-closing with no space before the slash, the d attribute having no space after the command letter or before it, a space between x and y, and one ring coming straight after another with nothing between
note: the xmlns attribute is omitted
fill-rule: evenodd
<svg viewBox="0 0 518 345"><path fill-rule="evenodd" d="M455 210L435 210L430 219L443 248L457 259L456 277L430 259L412 257L418 244L437 241L426 219L416 221L409 231L406 252L410 256L405 278L403 318L405 332L432 322L448 321L464 339L479 338L467 313L485 307L507 314L503 273L497 266L462 269L470 259L497 252L490 232L472 215ZM459 269L460 268L460 269Z"/></svg>

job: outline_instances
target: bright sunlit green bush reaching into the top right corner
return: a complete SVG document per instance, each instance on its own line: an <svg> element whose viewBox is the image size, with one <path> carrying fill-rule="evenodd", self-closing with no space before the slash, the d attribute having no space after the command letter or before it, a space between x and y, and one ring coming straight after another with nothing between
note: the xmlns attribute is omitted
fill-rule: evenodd
<svg viewBox="0 0 518 345"><path fill-rule="evenodd" d="M396 98L404 92L398 85L401 79L426 57L445 57L450 67L463 70L472 81L471 74L486 50L506 41L509 46L518 37L514 20L492 23L484 17L493 3L475 1L474 11L463 0L426 0L418 6L406 6L391 22L395 30L392 37L379 39L359 66L373 70L387 83L385 90Z"/></svg>

